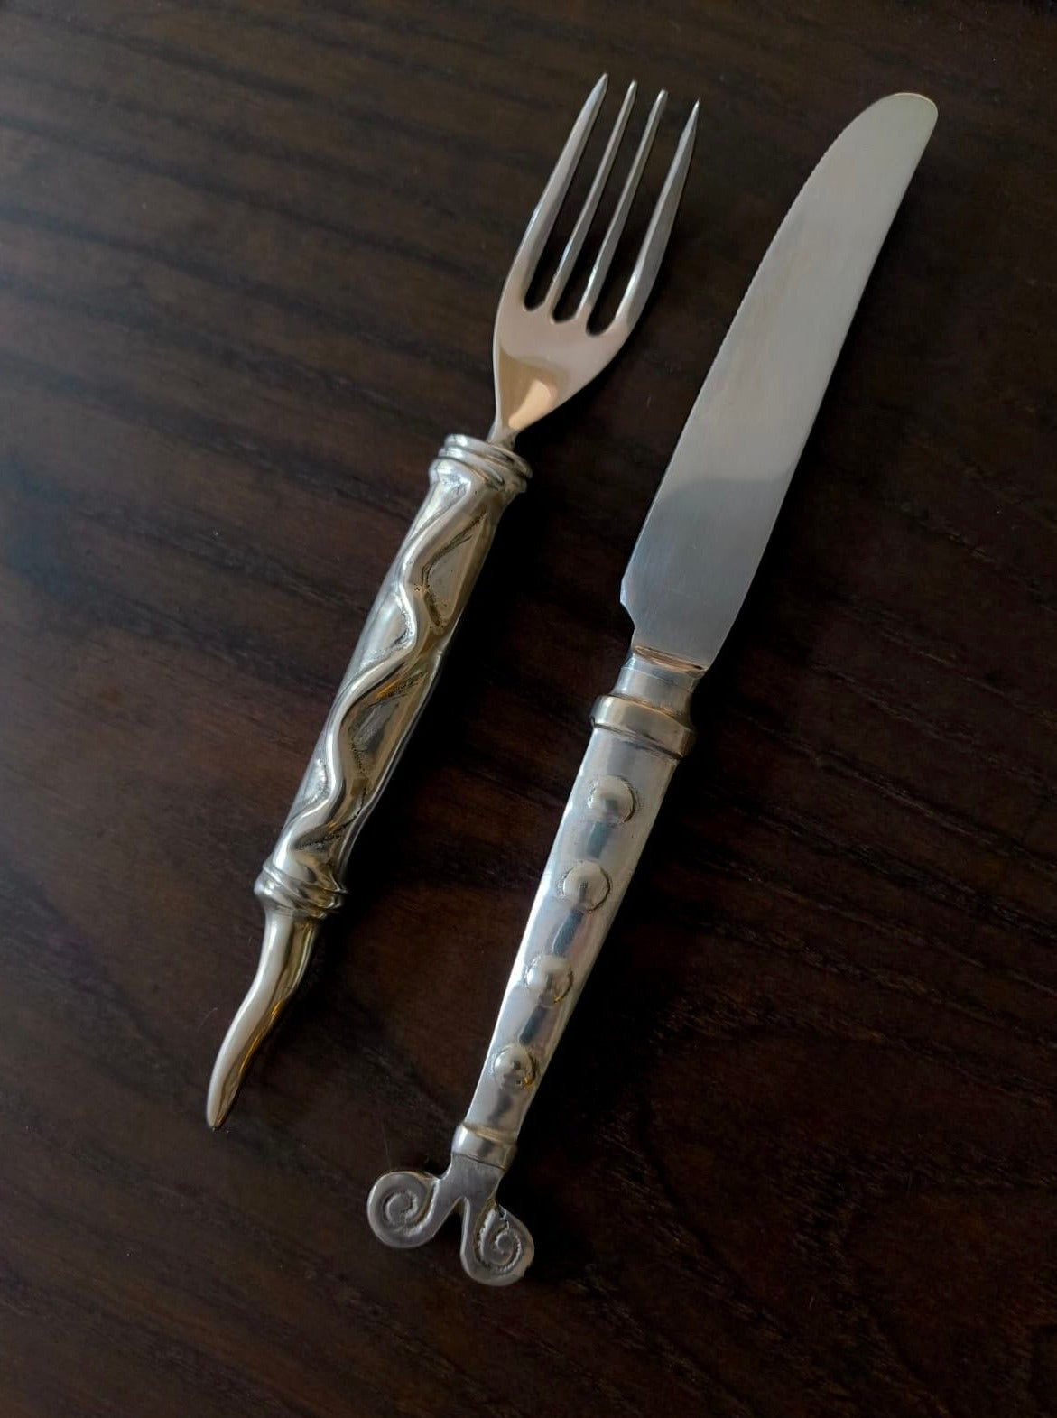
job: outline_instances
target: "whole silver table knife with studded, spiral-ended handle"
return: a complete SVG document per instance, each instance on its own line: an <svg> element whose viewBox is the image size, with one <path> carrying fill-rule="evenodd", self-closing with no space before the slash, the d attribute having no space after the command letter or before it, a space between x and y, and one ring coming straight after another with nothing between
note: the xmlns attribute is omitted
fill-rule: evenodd
<svg viewBox="0 0 1057 1418"><path fill-rule="evenodd" d="M936 121L895 94L850 123L777 230L682 430L620 600L634 623L594 726L507 984L485 1066L441 1177L387 1173L367 1200L393 1246L463 1212L463 1268L525 1273L528 1228L495 1193L521 1124L638 862L690 702L745 600L881 244Z"/></svg>

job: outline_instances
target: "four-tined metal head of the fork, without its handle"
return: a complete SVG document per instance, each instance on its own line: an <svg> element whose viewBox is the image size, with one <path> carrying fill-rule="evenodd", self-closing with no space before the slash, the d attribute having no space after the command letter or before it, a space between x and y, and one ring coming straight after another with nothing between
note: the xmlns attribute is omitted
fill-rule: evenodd
<svg viewBox="0 0 1057 1418"><path fill-rule="evenodd" d="M675 156L664 179L664 186L650 217L650 224L627 286L617 305L616 315L603 330L589 330L587 322L594 311L599 292L606 282L609 268L613 264L613 254L624 230L631 201L657 135L657 126L667 101L667 94L661 89L650 109L646 129L638 142L638 150L636 152L606 235L602 238L599 254L592 265L579 305L569 318L555 319L555 308L569 284L569 277L583 250L587 231L602 201L602 194L631 113L636 85L630 84L606 143L606 150L602 155L599 169L585 199L583 208L576 218L576 224L550 278L546 295L539 305L531 309L526 305L529 285L536 274L539 258L543 254L546 240L553 230L558 213L569 191L569 184L587 145L587 138L594 126L594 119L604 96L606 75L603 74L573 123L569 139L562 149L562 156L558 159L536 210L529 218L525 235L518 247L518 254L514 257L514 264L502 288L502 295L499 296L492 336L495 421L488 434L491 442L511 447L522 428L528 428L529 424L535 424L538 418L549 414L552 408L558 408L559 404L563 404L566 398L583 389L585 384L609 364L643 313L643 306L650 295L664 248L668 244L668 235L675 220L682 187L687 182L690 159L694 152L694 133L698 116L697 104L682 129Z"/></svg>

